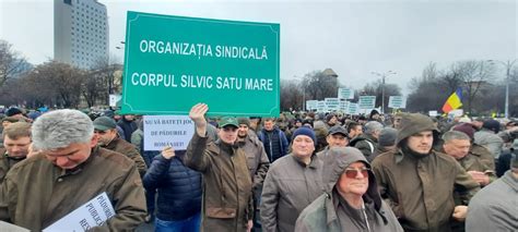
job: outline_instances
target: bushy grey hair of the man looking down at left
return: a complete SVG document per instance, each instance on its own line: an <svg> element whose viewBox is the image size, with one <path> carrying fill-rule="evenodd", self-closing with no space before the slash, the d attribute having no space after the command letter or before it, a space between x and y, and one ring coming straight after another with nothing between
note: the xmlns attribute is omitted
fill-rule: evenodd
<svg viewBox="0 0 518 232"><path fill-rule="evenodd" d="M56 110L38 117L32 127L34 146L40 150L90 143L94 135L92 120L79 110Z"/></svg>

